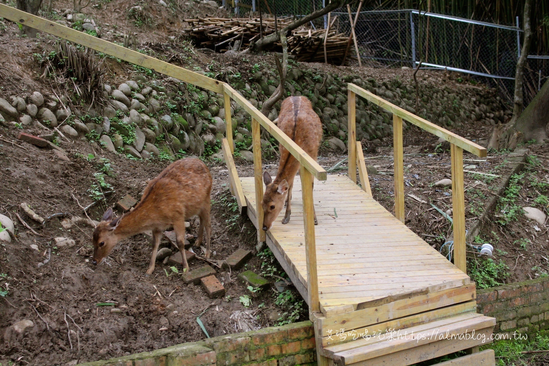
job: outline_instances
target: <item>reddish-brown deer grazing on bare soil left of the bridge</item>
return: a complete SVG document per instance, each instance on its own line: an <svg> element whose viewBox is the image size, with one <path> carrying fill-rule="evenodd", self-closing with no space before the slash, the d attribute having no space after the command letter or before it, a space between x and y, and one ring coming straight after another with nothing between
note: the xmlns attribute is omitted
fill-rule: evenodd
<svg viewBox="0 0 549 366"><path fill-rule="evenodd" d="M206 258L210 258L210 190L211 174L202 161L195 158L177 160L167 166L158 177L147 184L139 204L130 212L113 219L109 207L93 232L93 264L99 264L113 251L122 239L142 233L153 232L153 255L150 258L147 276L154 271L156 251L162 233L170 227L176 234L176 243L181 251L183 267L189 269L185 256L185 220L194 215L200 218L198 239L202 243L206 229Z"/></svg>

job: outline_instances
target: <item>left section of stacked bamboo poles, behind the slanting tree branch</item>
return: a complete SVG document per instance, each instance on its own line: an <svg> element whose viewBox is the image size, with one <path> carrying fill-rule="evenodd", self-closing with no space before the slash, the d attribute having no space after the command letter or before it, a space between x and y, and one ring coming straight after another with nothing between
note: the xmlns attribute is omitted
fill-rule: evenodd
<svg viewBox="0 0 549 366"><path fill-rule="evenodd" d="M275 18L265 16L261 22L259 18L197 18L185 21L191 27L184 31L190 33L201 47L207 48L217 48L238 40L241 41L240 47L244 49L250 42L259 40L260 31L264 37L275 32ZM290 22L292 18L278 18L276 26L282 29Z"/></svg>

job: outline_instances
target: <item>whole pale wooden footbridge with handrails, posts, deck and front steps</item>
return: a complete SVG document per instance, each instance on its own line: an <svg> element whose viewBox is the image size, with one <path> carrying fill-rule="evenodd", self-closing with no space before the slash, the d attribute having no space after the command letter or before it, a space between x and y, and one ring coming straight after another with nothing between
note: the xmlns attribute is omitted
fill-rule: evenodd
<svg viewBox="0 0 549 366"><path fill-rule="evenodd" d="M222 147L231 191L241 213L257 228L309 305L321 366L405 366L456 351L467 356L440 365L495 365L494 352L478 352L491 342L495 319L476 313L475 285L466 274L463 150L486 156L486 149L348 85L349 176L327 175L301 148L226 83L101 40L55 22L0 4L0 16L178 80L222 93L251 115L254 177L239 177L233 161L231 112L226 112ZM373 198L360 142L356 141L356 94L393 114L395 215ZM447 261L404 225L402 119L451 144L455 264ZM282 215L260 229L264 192L260 126L301 164L294 182L292 218ZM357 185L357 173L360 185ZM313 179L318 182L314 185ZM299 198L298 192L301 192ZM318 226L313 222L313 206Z"/></svg>

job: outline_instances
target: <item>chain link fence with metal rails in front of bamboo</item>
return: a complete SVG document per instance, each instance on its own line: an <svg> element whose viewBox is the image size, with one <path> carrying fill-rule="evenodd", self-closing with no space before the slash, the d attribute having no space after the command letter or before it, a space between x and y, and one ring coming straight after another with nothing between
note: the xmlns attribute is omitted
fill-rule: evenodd
<svg viewBox="0 0 549 366"><path fill-rule="evenodd" d="M350 34L349 13L340 17L339 31ZM352 14L353 17L356 13ZM500 88L508 102L522 45L522 30L488 22L417 10L361 12L355 33L362 60L384 67L416 67L463 72L473 80ZM354 55L355 52L353 52ZM549 76L549 56L529 56L525 70L525 105Z"/></svg>

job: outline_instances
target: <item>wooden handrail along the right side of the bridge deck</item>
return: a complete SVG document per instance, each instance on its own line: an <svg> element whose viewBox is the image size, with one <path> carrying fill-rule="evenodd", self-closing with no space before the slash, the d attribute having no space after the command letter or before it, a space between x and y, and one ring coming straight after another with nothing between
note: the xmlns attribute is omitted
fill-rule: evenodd
<svg viewBox="0 0 549 366"><path fill-rule="evenodd" d="M470 142L468 139L463 138L453 132L448 131L445 128L435 125L432 122L422 119L405 109L400 108L394 104L387 102L385 99L378 97L376 94L372 94L359 86L349 83L347 85L348 90L366 98L369 102L379 105L380 107L388 110L392 114L395 114L402 119L413 123L414 125L423 128L425 131L430 132L438 137L445 139L447 142L457 145L463 150L469 151L469 153L475 154L480 157L486 157L486 148L480 145Z"/></svg>

